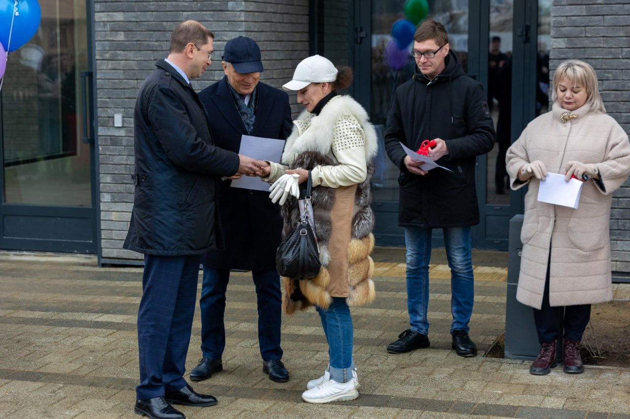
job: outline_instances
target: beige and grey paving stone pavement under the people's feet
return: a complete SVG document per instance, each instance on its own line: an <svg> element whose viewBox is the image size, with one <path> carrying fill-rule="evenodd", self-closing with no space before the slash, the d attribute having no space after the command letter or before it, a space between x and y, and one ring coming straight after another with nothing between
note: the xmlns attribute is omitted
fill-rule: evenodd
<svg viewBox="0 0 630 419"><path fill-rule="evenodd" d="M319 316L284 316L290 381L261 371L255 289L234 272L227 292L224 371L192 383L217 406L177 406L189 418L630 418L630 369L587 366L584 374L529 374L529 362L484 357L505 328L507 254L474 252L471 337L480 354L450 349L450 276L433 250L428 349L386 353L408 327L404 253L377 249L377 299L353 308L354 401L309 405L301 393L328 362ZM134 418L138 360L135 318L142 269L98 267L95 257L0 252L0 417ZM627 298L627 286L616 286ZM187 371L200 358L197 306Z"/></svg>

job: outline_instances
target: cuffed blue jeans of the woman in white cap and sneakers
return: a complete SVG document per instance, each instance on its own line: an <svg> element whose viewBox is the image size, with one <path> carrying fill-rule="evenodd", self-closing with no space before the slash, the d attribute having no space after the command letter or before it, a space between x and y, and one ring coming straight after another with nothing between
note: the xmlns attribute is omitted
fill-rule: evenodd
<svg viewBox="0 0 630 419"><path fill-rule="evenodd" d="M328 342L328 372L331 379L345 383L352 379L352 369L355 367L352 359L354 330L350 308L345 297L333 297L328 308L316 308Z"/></svg>

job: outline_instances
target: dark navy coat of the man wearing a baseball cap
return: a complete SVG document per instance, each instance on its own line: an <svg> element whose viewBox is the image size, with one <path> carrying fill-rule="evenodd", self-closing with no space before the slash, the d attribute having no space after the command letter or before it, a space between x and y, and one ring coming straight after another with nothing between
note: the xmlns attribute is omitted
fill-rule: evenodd
<svg viewBox="0 0 630 419"><path fill-rule="evenodd" d="M280 140L289 137L293 124L287 93L262 82L256 89L256 120L249 134L227 87L227 77L199 93L215 145L238 153L243 135ZM217 189L225 250L210 250L202 255L202 264L246 271L275 268L282 231L280 206L272 203L268 191L231 187L231 184L226 179L219 182Z"/></svg>

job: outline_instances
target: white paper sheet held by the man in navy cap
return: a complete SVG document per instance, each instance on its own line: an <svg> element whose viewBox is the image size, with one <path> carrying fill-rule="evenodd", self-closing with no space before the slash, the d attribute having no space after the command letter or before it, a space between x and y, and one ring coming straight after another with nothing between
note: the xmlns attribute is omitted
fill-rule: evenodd
<svg viewBox="0 0 630 419"><path fill-rule="evenodd" d="M284 140L275 138L253 137L243 135L241 137L241 148L239 154L243 154L258 160L269 160L279 162L282 157ZM260 177L241 176L241 179L234 179L232 187L242 187L243 189L255 189L256 191L269 191L269 184L260 180Z"/></svg>

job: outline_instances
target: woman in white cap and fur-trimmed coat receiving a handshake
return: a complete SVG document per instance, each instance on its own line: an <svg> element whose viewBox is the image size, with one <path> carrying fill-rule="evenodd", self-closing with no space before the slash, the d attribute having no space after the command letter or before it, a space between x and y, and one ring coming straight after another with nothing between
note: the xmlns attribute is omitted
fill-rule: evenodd
<svg viewBox="0 0 630 419"><path fill-rule="evenodd" d="M308 403L358 397L349 307L369 303L375 296L370 180L377 137L365 109L337 92L350 82L350 67L335 67L319 55L302 60L293 79L282 87L297 91L297 101L306 109L294 121L282 164L270 163L261 170L263 180L275 182L274 191L287 191L280 198L283 238L300 218L297 184L305 184L311 170L321 270L313 279L282 278L284 312L290 315L315 306L328 341L328 368L323 376L309 381L302 394ZM278 199L274 191L271 196ZM289 191L296 196L287 199Z"/></svg>

